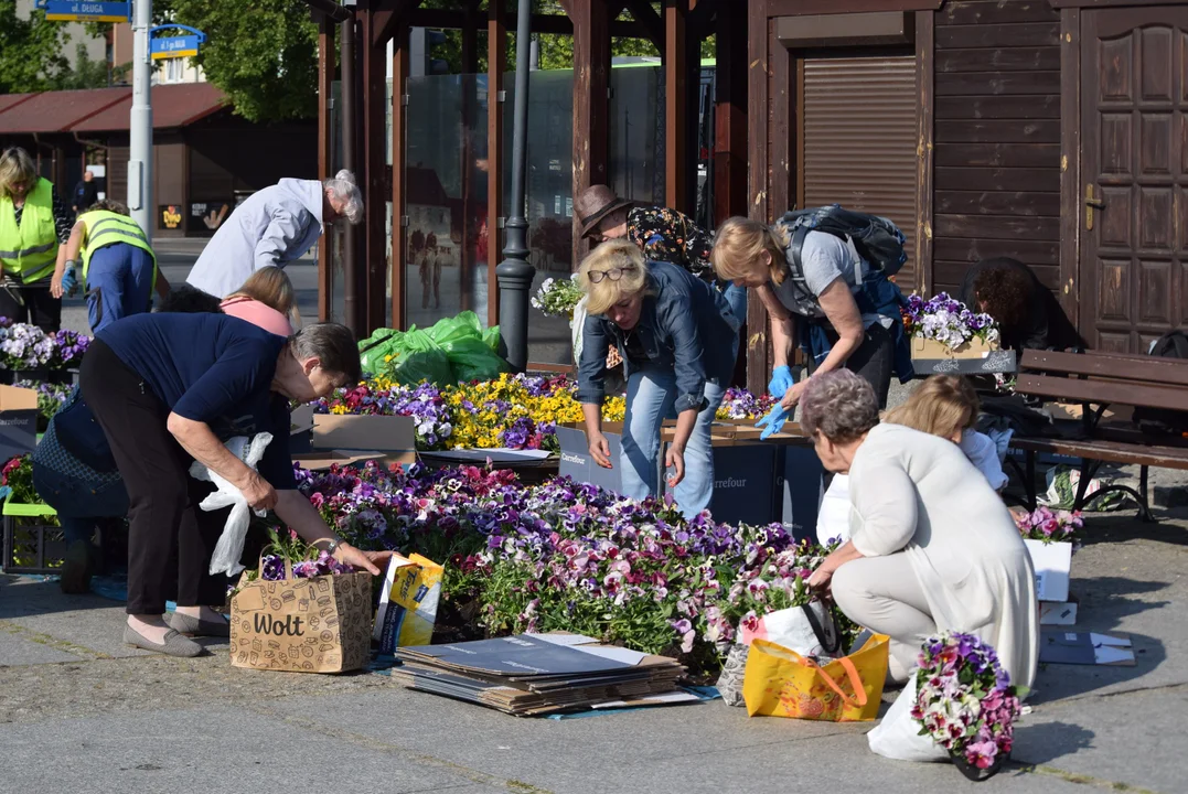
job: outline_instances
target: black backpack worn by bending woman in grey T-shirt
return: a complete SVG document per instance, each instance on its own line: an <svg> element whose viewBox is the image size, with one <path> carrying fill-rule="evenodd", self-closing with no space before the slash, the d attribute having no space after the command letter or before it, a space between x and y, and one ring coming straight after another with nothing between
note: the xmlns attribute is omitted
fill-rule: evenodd
<svg viewBox="0 0 1188 794"><path fill-rule="evenodd" d="M904 252L904 236L899 227L885 217L866 215L847 210L840 204L815 207L807 210L785 212L779 223L786 227L790 243L788 246L788 267L791 273L794 299L792 311L805 317L823 317L824 312L816 297L804 282L804 267L801 262L801 249L809 231L824 231L842 241L852 241L858 255L871 266L871 269L883 275L895 275L908 261Z"/></svg>

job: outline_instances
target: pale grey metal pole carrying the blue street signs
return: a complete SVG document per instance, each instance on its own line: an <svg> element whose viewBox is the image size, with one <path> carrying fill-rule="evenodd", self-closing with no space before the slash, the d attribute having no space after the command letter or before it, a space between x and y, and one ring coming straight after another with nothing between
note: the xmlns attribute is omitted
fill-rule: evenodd
<svg viewBox="0 0 1188 794"><path fill-rule="evenodd" d="M128 209L152 241L152 0L132 0L132 113L128 117Z"/></svg>

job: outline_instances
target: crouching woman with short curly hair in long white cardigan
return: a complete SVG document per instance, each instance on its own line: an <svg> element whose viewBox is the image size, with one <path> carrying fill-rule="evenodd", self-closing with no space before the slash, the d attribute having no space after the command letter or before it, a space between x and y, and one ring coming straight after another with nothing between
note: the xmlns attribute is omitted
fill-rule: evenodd
<svg viewBox="0 0 1188 794"><path fill-rule="evenodd" d="M1020 686L1040 653L1031 558L1015 520L948 439L879 424L874 389L849 370L813 377L801 426L826 469L849 474L851 540L809 586L855 623L891 637L889 678L905 681L937 631L992 644Z"/></svg>

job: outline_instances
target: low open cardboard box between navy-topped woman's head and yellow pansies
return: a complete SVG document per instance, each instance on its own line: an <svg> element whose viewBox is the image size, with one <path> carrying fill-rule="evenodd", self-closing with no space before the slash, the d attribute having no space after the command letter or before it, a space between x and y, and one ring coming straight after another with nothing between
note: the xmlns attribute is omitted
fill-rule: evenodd
<svg viewBox="0 0 1188 794"><path fill-rule="evenodd" d="M292 430L292 425L291 425ZM290 449L293 460L307 469L326 469L331 464L349 465L360 460L398 463L417 462L416 427L410 417L353 414L312 415L309 446ZM295 439L290 436L290 443Z"/></svg>

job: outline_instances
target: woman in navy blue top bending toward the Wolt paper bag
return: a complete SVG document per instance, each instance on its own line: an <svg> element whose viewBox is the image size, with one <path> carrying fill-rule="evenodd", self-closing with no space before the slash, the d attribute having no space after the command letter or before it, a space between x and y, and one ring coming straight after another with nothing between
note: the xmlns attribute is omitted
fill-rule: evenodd
<svg viewBox="0 0 1188 794"><path fill-rule="evenodd" d="M287 401L310 401L359 379L359 349L335 323L274 336L226 315L135 315L102 329L83 357L87 409L58 423L58 440L96 470L119 469L128 491L128 623L124 641L175 656L202 646L182 634L227 636L211 606L227 579L208 573L222 528L197 507L209 484L194 460L239 488L253 508L277 516L336 559L379 573L383 552L340 542L296 490ZM89 411L88 411L89 409ZM93 419L90 418L93 415ZM223 442L272 433L253 471ZM211 520L217 516L216 520ZM176 554L177 570L169 570ZM176 582L177 614L163 620Z"/></svg>

